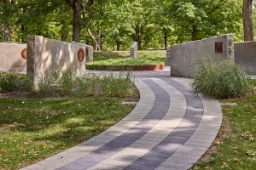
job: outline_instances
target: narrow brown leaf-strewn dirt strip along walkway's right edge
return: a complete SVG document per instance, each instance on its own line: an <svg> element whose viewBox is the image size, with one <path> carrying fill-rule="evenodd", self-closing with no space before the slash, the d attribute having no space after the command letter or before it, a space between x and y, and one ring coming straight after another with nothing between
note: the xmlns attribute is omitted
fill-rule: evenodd
<svg viewBox="0 0 256 170"><path fill-rule="evenodd" d="M218 145L222 144L224 139L226 139L231 133L231 127L228 117L224 116L222 125L218 132L216 139L214 139L212 146L207 150L207 152L201 156L201 159L195 163L191 169L196 169L196 165L205 164L211 159L212 153L216 153L218 150Z"/></svg>

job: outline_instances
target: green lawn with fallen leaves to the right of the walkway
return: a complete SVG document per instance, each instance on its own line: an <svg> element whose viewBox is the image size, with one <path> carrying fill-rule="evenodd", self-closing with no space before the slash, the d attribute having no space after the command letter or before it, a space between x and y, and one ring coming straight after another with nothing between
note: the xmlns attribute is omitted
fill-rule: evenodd
<svg viewBox="0 0 256 170"><path fill-rule="evenodd" d="M256 84L256 81L253 81ZM256 94L241 99L228 99L236 106L224 106L229 120L230 135L215 144L217 152L192 169L252 169L256 167ZM220 133L224 133L224 128Z"/></svg>

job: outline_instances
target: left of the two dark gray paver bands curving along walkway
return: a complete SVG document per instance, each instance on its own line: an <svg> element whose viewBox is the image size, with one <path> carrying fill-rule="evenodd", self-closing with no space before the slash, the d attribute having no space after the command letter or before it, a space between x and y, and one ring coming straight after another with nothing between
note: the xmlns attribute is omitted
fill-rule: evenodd
<svg viewBox="0 0 256 170"><path fill-rule="evenodd" d="M113 139L108 144L104 144L101 148L90 152L86 156L82 156L78 160L58 168L59 170L84 170L95 166L97 163L113 156L119 150L133 144L137 139L142 138L143 135L148 133L166 115L171 102L169 95L157 83L151 80L144 80L143 82L152 89L155 96L153 108L148 115L137 126L132 127L118 138Z"/></svg>

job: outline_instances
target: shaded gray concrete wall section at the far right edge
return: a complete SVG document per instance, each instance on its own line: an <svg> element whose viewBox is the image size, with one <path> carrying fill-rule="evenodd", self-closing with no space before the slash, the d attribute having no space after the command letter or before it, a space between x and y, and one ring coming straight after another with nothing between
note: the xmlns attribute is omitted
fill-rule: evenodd
<svg viewBox="0 0 256 170"><path fill-rule="evenodd" d="M249 75L256 75L256 42L235 44L235 62Z"/></svg>

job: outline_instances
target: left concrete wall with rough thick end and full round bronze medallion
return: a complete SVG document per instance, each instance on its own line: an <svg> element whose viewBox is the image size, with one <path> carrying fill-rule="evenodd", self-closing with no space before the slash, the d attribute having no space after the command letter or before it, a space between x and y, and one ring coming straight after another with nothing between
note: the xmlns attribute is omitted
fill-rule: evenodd
<svg viewBox="0 0 256 170"><path fill-rule="evenodd" d="M53 76L67 70L78 75L85 72L85 46L61 42L40 36L29 36L27 41L27 76L32 77L37 88L38 77L47 73Z"/></svg>

